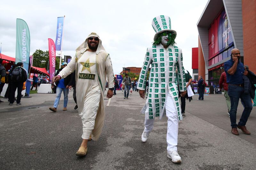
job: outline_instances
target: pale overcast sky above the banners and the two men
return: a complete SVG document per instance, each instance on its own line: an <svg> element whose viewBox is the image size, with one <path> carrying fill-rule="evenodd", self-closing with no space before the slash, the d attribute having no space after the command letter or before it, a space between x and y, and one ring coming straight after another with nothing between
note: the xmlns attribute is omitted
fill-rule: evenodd
<svg viewBox="0 0 256 170"><path fill-rule="evenodd" d="M62 55L75 55L75 49L91 32L100 35L110 54L114 74L122 67L141 67L155 31L151 23L158 15L171 18L177 32L176 45L182 48L183 64L192 75L191 55L198 47L196 23L208 0L130 0L130 1L2 1L0 42L2 54L15 57L16 18L25 20L30 30L30 55L36 49L48 50L48 38L55 41L57 17L66 16ZM157 2L157 3L156 3Z"/></svg>

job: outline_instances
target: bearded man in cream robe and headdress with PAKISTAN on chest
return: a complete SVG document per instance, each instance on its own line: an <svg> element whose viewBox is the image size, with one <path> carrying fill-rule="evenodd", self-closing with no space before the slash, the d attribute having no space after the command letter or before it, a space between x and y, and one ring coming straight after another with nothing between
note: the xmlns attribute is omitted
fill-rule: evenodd
<svg viewBox="0 0 256 170"><path fill-rule="evenodd" d="M76 48L76 57L72 57L70 63L53 78L53 81L65 78L74 70L76 70L78 112L83 123L83 141L76 155L85 156L90 135L93 140L98 140L102 132L105 117L103 95L107 78L109 83L107 98L113 96L114 90L111 60L96 33L91 33Z"/></svg>

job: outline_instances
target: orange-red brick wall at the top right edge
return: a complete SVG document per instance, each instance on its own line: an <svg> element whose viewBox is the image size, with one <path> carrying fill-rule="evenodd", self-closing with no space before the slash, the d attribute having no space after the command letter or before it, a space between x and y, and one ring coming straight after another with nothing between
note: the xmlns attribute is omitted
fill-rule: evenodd
<svg viewBox="0 0 256 170"><path fill-rule="evenodd" d="M244 64L256 73L256 0L242 0Z"/></svg>

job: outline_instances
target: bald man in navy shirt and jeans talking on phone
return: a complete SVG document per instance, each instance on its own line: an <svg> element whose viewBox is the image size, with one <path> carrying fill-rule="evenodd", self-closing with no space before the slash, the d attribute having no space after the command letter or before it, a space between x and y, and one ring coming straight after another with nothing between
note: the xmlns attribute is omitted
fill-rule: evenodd
<svg viewBox="0 0 256 170"><path fill-rule="evenodd" d="M244 64L240 62L240 51L237 48L231 50L230 60L224 63L224 70L227 76L228 95L230 97L230 122L231 133L239 135L237 128L241 129L244 134L251 135L245 124L252 111L252 99L250 93L244 92L244 76L249 75L247 70L244 70ZM239 99L243 102L244 111L238 124L236 124L236 112Z"/></svg>

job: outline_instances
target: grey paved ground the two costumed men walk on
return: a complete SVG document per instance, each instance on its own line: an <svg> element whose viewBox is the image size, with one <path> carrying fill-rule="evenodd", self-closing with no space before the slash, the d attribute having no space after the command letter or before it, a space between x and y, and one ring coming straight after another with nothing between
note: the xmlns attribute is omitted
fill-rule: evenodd
<svg viewBox="0 0 256 170"><path fill-rule="evenodd" d="M69 96L72 96L72 91ZM88 154L75 155L81 142L82 123L70 97L68 111L52 107L55 94L31 94L22 105L0 109L0 169L255 169L256 110L248 130L230 133L230 121L223 95L211 94L204 101L187 100L186 117L179 124L178 152L181 164L166 156L166 118L156 120L147 143L140 142L145 100L133 92L128 100L117 92L105 99L106 118L99 141L90 141ZM2 100L2 99L1 99ZM237 119L242 112L238 107Z"/></svg>

